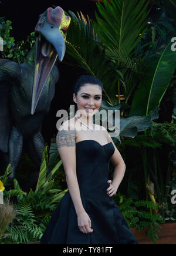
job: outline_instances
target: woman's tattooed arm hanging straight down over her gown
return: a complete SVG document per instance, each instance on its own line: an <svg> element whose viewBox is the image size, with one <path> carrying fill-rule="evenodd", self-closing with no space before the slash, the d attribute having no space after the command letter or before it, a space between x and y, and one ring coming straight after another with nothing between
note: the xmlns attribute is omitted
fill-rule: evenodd
<svg viewBox="0 0 176 256"><path fill-rule="evenodd" d="M68 129L65 122L57 133L56 141L66 174L67 187L69 188L70 197L75 206L80 231L83 233L92 232L90 218L84 210L80 197L80 189L76 175L76 130Z"/></svg>

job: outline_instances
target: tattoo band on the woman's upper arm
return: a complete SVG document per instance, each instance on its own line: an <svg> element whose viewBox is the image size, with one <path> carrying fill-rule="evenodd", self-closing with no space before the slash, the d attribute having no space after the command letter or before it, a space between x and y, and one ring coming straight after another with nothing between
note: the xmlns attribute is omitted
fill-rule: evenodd
<svg viewBox="0 0 176 256"><path fill-rule="evenodd" d="M74 147L76 144L76 130L61 130L56 137L57 148Z"/></svg>

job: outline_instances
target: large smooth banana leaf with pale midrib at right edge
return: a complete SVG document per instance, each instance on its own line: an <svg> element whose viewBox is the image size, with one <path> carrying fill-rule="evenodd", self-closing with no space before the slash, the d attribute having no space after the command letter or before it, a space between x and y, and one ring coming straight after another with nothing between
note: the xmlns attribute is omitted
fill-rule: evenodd
<svg viewBox="0 0 176 256"><path fill-rule="evenodd" d="M161 55L148 59L131 106L130 116L147 116L161 100L170 84L176 67L176 52L168 43Z"/></svg>

